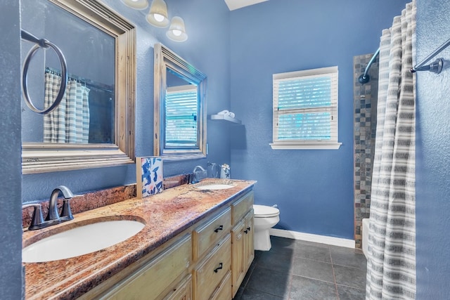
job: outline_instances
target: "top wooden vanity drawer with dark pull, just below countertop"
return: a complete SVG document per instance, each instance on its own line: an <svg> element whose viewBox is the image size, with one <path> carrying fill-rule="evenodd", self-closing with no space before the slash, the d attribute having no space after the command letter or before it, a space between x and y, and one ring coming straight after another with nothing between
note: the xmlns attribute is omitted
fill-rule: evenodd
<svg viewBox="0 0 450 300"><path fill-rule="evenodd" d="M196 261L207 249L216 246L231 229L231 209L226 209L212 221L193 230L193 259Z"/></svg>

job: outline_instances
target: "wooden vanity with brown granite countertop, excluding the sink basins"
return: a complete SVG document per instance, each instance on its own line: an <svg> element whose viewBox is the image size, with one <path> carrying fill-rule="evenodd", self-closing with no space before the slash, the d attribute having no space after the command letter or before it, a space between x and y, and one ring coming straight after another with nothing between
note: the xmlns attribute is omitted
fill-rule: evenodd
<svg viewBox="0 0 450 300"><path fill-rule="evenodd" d="M205 179L76 214L59 226L108 218L145 226L97 252L24 263L26 299L231 299L254 258L255 181L228 181L233 187L224 190L198 188L219 181ZM49 229L25 231L24 246Z"/></svg>

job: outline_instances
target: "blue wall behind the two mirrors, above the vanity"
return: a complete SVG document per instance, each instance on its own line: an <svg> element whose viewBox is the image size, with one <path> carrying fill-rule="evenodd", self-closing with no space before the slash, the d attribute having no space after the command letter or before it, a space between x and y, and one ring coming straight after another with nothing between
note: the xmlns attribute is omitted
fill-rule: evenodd
<svg viewBox="0 0 450 300"><path fill-rule="evenodd" d="M136 25L136 156L153 155L153 45L157 42L172 49L207 74L208 115L230 108L230 13L224 1L167 0L169 18L184 18L188 40L184 43L170 41L167 29L153 27L146 22L145 11L136 11L117 0L105 0L124 18ZM202 7L202 9L198 9ZM230 162L229 127L208 122L207 141L210 155L207 159L187 162L166 162L165 176L189 173L198 164ZM117 185L136 183L133 165L24 175L23 202L43 200L58 185L67 185L73 193L85 193Z"/></svg>

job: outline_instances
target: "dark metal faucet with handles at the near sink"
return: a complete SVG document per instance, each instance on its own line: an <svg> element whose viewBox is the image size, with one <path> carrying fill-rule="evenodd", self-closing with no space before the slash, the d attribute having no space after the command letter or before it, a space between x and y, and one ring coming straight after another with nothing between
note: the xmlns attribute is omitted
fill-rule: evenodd
<svg viewBox="0 0 450 300"><path fill-rule="evenodd" d="M61 214L58 214L58 196L63 193L63 209ZM49 214L44 220L42 216L42 206L39 203L23 204L22 209L27 207L34 207L32 221L29 230L36 230L46 228L58 223L69 221L73 219L72 211L70 210L69 200L73 197L72 192L64 185L58 186L51 192L49 200Z"/></svg>

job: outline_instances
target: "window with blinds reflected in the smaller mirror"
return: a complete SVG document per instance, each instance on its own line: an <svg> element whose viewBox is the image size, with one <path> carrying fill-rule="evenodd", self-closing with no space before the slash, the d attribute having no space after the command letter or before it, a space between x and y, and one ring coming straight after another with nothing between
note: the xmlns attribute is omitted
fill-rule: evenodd
<svg viewBox="0 0 450 300"><path fill-rule="evenodd" d="M165 145L197 145L197 88L193 85L167 88L165 100Z"/></svg>

